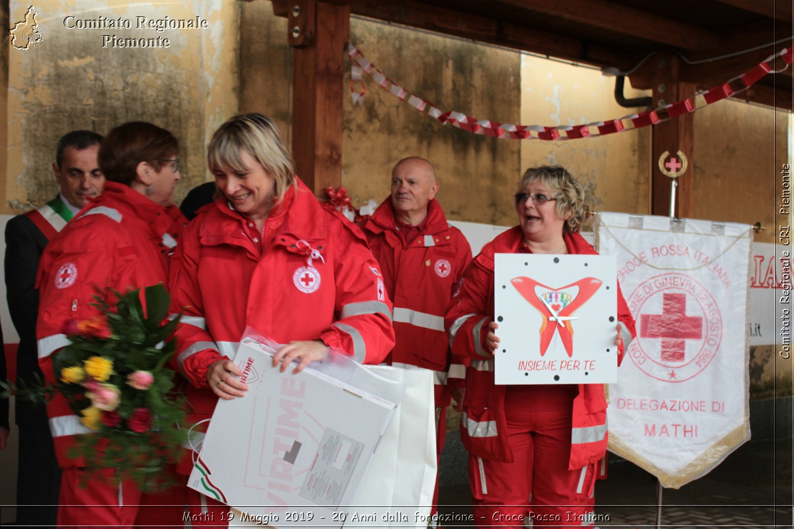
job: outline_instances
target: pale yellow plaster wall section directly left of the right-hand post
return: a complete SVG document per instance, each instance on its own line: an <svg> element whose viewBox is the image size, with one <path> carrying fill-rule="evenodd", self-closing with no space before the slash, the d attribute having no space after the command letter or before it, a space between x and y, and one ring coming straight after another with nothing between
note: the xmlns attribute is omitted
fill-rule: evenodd
<svg viewBox="0 0 794 529"><path fill-rule="evenodd" d="M522 55L522 125L584 125L640 109L615 102L615 77L587 67ZM648 92L626 83L626 98ZM651 128L572 141L523 141L521 168L561 165L585 186L597 211L650 213Z"/></svg>

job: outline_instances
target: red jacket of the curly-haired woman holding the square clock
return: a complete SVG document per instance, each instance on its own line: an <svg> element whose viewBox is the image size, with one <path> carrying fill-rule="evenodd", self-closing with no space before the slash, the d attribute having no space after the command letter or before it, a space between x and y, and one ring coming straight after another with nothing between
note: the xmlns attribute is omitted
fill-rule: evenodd
<svg viewBox="0 0 794 529"><path fill-rule="evenodd" d="M595 250L578 233L565 234L569 254L595 255ZM446 312L445 325L454 355L469 356L466 393L461 414L464 446L480 458L512 462L513 454L505 435L505 385L494 384L493 357L485 351L488 323L494 313L494 254L523 251L522 231L515 226L485 245L464 273L460 291ZM634 319L618 287L618 320L624 349L636 335ZM573 401L569 470L599 461L607 451L607 401L603 384L580 384Z"/></svg>

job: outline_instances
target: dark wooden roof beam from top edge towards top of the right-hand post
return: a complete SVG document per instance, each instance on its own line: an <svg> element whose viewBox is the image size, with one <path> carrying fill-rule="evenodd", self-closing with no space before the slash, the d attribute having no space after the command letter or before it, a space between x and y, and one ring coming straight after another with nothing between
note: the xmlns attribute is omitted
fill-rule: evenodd
<svg viewBox="0 0 794 529"><path fill-rule="evenodd" d="M676 48L713 50L719 44L717 34L708 29L608 0L499 0L499 3Z"/></svg>

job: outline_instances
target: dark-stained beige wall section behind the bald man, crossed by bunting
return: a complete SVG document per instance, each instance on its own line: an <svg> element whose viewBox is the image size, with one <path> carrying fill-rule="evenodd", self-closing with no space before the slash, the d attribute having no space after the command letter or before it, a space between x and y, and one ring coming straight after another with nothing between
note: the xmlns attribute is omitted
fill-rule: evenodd
<svg viewBox="0 0 794 529"><path fill-rule="evenodd" d="M518 53L356 18L350 28L360 52L419 98L443 111L518 121ZM505 198L518 173L519 142L441 125L372 79L364 83L367 94L358 105L345 98L342 180L356 204L380 202L389 192L391 167L418 155L436 167L441 182L437 199L449 218L499 224L511 208Z"/></svg>

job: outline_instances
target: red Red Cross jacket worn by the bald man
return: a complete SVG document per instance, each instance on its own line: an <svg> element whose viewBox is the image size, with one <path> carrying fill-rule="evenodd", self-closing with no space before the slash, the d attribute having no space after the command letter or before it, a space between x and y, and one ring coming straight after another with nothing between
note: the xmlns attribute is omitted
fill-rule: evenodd
<svg viewBox="0 0 794 529"><path fill-rule="evenodd" d="M384 273L386 291L394 302L395 348L390 363L434 371L437 385L463 385L461 358L449 353L444 312L472 260L461 231L449 226L435 199L427 205L422 231L407 243L399 234L391 198L376 209L364 226L372 253Z"/></svg>

